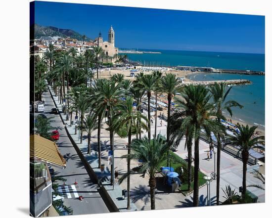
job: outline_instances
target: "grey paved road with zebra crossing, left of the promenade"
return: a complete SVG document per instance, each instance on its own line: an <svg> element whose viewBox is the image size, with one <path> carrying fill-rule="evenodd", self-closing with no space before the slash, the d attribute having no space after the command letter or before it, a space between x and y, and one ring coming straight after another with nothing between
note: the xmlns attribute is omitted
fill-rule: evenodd
<svg viewBox="0 0 272 218"><path fill-rule="evenodd" d="M75 179L78 182L75 185L78 195L84 197L83 201L75 198L65 198L64 204L67 207L73 209L73 215L83 215L83 214L98 214L98 213L109 213L104 201L102 200L99 192L97 191L98 186L91 181L85 167L83 166L80 157L76 153L73 145L71 144L64 126L60 120L59 115L51 115L51 108L55 107L51 99L49 91L44 92L43 100L45 101L45 116L51 117L51 126L58 129L60 133L57 145L59 147L60 153L66 159L66 168L59 169L54 168L56 176L62 176L66 178L66 185L73 185ZM63 182L59 182L63 185Z"/></svg>

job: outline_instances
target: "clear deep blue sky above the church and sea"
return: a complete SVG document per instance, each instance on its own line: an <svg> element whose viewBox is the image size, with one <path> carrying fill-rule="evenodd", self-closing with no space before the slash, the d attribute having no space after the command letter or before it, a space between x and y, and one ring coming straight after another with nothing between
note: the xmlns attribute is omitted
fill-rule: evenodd
<svg viewBox="0 0 272 218"><path fill-rule="evenodd" d="M112 25L121 48L265 53L264 16L36 1L35 22L104 40Z"/></svg>

